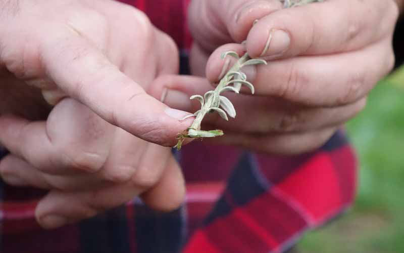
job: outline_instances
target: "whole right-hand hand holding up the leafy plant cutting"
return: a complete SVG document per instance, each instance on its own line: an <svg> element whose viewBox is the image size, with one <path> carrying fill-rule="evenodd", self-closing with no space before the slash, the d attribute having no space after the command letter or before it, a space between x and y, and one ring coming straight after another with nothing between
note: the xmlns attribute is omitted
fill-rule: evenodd
<svg viewBox="0 0 404 253"><path fill-rule="evenodd" d="M215 115L205 121L203 129L224 130L224 137L209 140L218 144L281 154L315 149L364 108L367 94L394 63L391 39L398 10L392 0L327 0L291 9L282 9L278 0L206 0L193 1L189 12L195 39L191 68L203 75L206 65L209 81L157 80L151 93L159 96L168 88L168 105L196 111L200 105L186 98L218 82L226 63L220 59L223 52L248 52L269 61L244 69L256 95L226 94L237 112L234 120ZM243 40L245 47L234 44Z"/></svg>

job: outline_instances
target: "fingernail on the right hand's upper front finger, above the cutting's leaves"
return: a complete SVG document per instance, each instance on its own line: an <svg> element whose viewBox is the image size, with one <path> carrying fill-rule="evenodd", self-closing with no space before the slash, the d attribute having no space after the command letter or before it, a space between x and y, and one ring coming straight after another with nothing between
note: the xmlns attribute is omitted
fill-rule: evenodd
<svg viewBox="0 0 404 253"><path fill-rule="evenodd" d="M290 36L287 32L278 29L272 29L269 33L267 43L261 53L261 58L270 60L266 57L275 57L282 55L290 46Z"/></svg>

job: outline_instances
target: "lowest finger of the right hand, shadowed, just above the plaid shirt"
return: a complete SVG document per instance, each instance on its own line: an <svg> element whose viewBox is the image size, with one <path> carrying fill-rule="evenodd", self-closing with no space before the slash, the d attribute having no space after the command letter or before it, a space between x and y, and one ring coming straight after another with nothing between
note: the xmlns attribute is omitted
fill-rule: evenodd
<svg viewBox="0 0 404 253"><path fill-rule="evenodd" d="M257 152L294 155L313 151L331 138L338 128L285 135L243 135L226 132L218 138L207 138L208 143L240 146Z"/></svg>

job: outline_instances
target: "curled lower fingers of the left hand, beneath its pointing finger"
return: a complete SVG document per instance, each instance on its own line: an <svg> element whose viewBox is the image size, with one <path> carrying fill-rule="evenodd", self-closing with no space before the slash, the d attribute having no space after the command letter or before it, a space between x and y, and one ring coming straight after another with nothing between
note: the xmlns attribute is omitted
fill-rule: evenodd
<svg viewBox="0 0 404 253"><path fill-rule="evenodd" d="M148 143L66 98L46 122L0 117L0 160L13 186L51 190L36 207L44 228L86 219L140 195L158 210L177 208L185 184L171 149Z"/></svg>

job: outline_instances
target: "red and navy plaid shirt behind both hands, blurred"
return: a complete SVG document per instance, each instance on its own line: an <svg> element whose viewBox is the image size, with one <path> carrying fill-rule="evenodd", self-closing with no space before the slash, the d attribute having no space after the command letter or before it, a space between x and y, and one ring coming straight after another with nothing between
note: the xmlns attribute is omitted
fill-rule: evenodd
<svg viewBox="0 0 404 253"><path fill-rule="evenodd" d="M122 2L145 11L180 48L189 48L188 0ZM184 56L187 50L181 52ZM297 156L203 142L176 155L187 194L175 212L155 212L134 199L52 231L41 229L34 219L44 191L0 181L0 252L284 252L306 231L343 213L355 196L356 159L342 132L320 149Z"/></svg>

